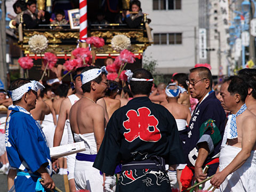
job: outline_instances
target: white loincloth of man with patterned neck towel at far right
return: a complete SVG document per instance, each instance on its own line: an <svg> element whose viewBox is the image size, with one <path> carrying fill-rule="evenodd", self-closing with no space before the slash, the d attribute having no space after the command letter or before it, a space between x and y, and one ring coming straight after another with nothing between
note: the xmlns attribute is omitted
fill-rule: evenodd
<svg viewBox="0 0 256 192"><path fill-rule="evenodd" d="M233 161L242 148L222 145L220 150L220 165L222 171ZM251 152L251 156L235 172L228 175L220 186L223 192L254 191L256 188L256 151Z"/></svg>

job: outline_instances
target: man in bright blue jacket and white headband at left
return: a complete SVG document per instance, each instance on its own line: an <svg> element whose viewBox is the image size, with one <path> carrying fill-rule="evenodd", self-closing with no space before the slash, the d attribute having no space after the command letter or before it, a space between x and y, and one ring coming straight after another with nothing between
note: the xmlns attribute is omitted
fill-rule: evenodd
<svg viewBox="0 0 256 192"><path fill-rule="evenodd" d="M17 79L9 87L13 105L7 119L5 146L12 167L17 169L15 191L54 189L50 177L52 164L50 149L41 126L29 113L36 106L36 92L44 86L36 81ZM39 179L43 181L39 181Z"/></svg>

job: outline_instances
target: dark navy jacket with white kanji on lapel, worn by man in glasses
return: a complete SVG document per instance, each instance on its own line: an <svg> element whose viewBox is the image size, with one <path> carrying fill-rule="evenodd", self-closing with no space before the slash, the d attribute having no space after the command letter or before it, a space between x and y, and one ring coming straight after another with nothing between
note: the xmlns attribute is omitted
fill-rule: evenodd
<svg viewBox="0 0 256 192"><path fill-rule="evenodd" d="M225 111L214 91L210 92L201 103L197 104L188 126L188 135L184 147L188 166L195 166L198 144L201 142L207 142L210 150L204 165L219 157L221 141L225 131L225 120ZM209 166L208 177L216 172L218 165L219 163L214 163Z"/></svg>

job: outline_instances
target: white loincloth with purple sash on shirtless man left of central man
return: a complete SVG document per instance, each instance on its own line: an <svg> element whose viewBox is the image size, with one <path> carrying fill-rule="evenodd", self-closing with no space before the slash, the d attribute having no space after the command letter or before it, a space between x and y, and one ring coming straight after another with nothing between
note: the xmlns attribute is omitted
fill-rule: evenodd
<svg viewBox="0 0 256 192"><path fill-rule="evenodd" d="M74 139L76 142L84 141L85 151L84 154L95 155L97 154L97 145L94 137L94 133L76 134L74 133ZM100 171L92 167L93 162L78 161L75 162L75 184L78 190L88 189L91 192L103 191L102 183L103 177L100 175Z"/></svg>

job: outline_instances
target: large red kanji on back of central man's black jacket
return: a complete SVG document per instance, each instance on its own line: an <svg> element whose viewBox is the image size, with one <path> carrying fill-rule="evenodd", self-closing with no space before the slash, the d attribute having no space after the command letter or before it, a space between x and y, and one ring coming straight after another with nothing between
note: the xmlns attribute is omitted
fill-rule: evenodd
<svg viewBox="0 0 256 192"><path fill-rule="evenodd" d="M141 107L136 110L129 110L126 113L127 121L123 122L123 126L129 132L124 133L126 141L132 142L140 138L142 141L156 142L161 139L161 133L157 128L158 120L154 115L150 115L151 111L147 107Z"/></svg>

